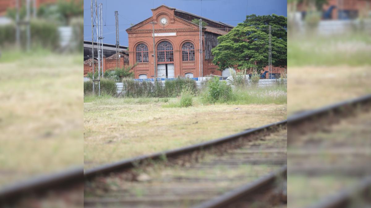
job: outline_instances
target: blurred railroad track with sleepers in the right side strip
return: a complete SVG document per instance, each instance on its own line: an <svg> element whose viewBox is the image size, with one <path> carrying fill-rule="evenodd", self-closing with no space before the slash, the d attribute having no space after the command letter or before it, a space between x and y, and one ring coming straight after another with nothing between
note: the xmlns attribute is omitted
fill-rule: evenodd
<svg viewBox="0 0 371 208"><path fill-rule="evenodd" d="M371 206L371 95L288 118L288 207Z"/></svg>

